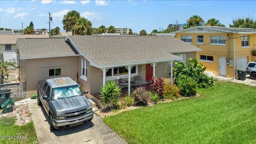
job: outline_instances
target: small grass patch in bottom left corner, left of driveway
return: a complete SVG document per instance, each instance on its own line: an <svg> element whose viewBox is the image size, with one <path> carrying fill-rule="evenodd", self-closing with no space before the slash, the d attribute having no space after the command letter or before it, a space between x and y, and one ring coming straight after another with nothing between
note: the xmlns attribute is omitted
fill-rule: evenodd
<svg viewBox="0 0 256 144"><path fill-rule="evenodd" d="M14 125L15 117L3 117L0 119L0 143L33 143L37 141L33 122L26 125ZM12 139L4 140L3 136L13 136ZM17 140L14 136L27 136L27 139Z"/></svg>

